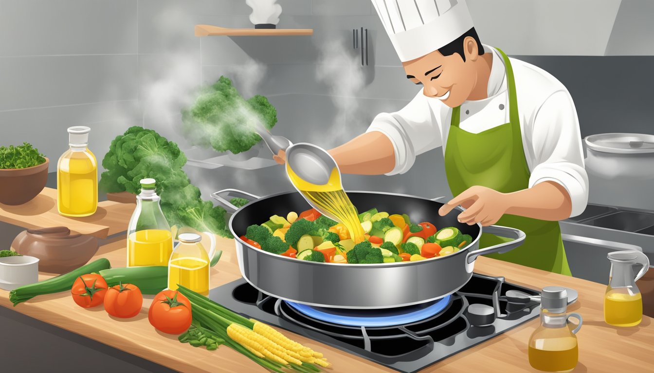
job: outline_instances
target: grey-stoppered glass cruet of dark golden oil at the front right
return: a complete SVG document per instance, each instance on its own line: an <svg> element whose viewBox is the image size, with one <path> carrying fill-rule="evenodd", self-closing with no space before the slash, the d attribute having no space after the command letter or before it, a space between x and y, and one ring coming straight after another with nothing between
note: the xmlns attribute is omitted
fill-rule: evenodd
<svg viewBox="0 0 654 373"><path fill-rule="evenodd" d="M529 364L544 372L570 372L579 359L575 334L581 329L581 315L566 314L568 293L563 287L544 287L540 297L541 324L529 338ZM579 319L572 331L570 317Z"/></svg>

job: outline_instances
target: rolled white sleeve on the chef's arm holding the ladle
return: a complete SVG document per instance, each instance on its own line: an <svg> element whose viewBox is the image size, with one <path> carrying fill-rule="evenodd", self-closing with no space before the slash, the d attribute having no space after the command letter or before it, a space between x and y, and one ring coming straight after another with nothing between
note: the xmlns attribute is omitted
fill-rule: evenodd
<svg viewBox="0 0 654 373"><path fill-rule="evenodd" d="M377 115L366 133L373 131L383 133L393 144L395 167L387 175L404 174L417 155L441 146L438 123L422 91L401 110Z"/></svg>

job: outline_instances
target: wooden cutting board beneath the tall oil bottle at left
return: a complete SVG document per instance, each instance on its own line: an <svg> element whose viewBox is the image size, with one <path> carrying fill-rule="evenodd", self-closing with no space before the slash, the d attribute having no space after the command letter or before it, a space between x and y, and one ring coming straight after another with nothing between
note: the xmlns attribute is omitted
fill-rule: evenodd
<svg viewBox="0 0 654 373"><path fill-rule="evenodd" d="M97 211L84 218L61 216L57 211L57 189L46 187L35 199L18 206L0 203L0 221L27 229L67 227L74 233L107 238L127 231L136 204L103 201Z"/></svg>

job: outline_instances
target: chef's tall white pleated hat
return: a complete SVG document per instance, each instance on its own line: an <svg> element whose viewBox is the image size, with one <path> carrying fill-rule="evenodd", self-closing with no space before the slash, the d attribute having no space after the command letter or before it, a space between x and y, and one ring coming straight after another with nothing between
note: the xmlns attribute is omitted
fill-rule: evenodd
<svg viewBox="0 0 654 373"><path fill-rule="evenodd" d="M438 50L472 29L465 0L372 0L402 62Z"/></svg>

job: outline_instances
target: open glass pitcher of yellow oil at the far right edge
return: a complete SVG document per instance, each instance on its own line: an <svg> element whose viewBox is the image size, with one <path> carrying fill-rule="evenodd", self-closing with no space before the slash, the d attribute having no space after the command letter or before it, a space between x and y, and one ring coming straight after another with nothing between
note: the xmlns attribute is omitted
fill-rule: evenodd
<svg viewBox="0 0 654 373"><path fill-rule="evenodd" d="M604 294L604 321L616 327L632 327L640 324L643 317L643 299L636 286L649 268L647 255L636 250L608 253L611 261L609 284ZM634 276L634 265L642 268Z"/></svg>

